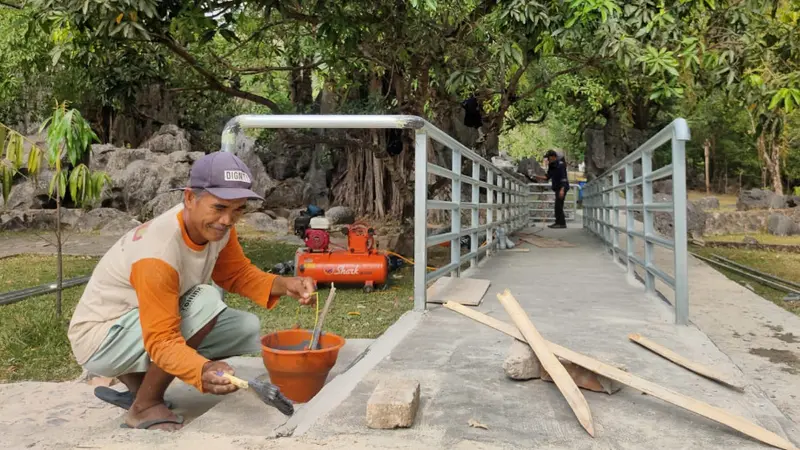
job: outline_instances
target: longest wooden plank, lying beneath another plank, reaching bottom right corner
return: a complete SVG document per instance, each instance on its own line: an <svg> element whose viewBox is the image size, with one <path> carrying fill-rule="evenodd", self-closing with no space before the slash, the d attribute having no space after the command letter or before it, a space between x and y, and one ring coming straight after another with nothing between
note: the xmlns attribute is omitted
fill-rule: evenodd
<svg viewBox="0 0 800 450"><path fill-rule="evenodd" d="M465 315L470 319L473 319L484 325L488 325L489 327L501 331L519 341L525 342L525 338L519 332L519 330L509 323L497 320L494 317L489 317L486 314L464 307L457 303L448 302L444 304L444 307ZM591 370L592 372L606 376L612 380L616 380L626 386L630 386L637 391L660 398L667 403L672 403L675 406L699 414L722 425L726 425L736 431L746 434L747 436L772 445L773 447L782 448L784 450L797 450L797 447L795 447L791 442L778 436L777 434L752 422L748 422L746 419L733 415L723 409L671 391L665 387L647 381L644 378L639 378L636 375L632 375L628 372L617 369L616 367L589 358L588 356L584 356L570 349L561 347L558 344L548 342L547 345L556 356L571 361L581 367Z"/></svg>

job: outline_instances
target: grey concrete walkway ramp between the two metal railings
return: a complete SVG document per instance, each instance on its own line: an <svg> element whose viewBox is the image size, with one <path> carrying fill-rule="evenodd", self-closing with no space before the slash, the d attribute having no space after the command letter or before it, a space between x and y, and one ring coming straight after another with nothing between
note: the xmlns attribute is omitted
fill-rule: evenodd
<svg viewBox="0 0 800 450"><path fill-rule="evenodd" d="M599 242L578 229L547 230L572 248L500 253L471 276L492 280L476 308L510 322L496 299L509 288L545 338L664 387L740 415L786 437L792 424L731 360L693 326L673 325L671 307L646 299L629 284ZM420 447L450 448L462 441L536 448L764 448L725 426L624 388L614 395L583 391L597 437L578 424L555 385L507 379L502 370L510 338L452 311L430 311L360 383L339 408L308 431L308 438L393 436ZM714 367L746 387L737 393L687 371L627 338L638 332L687 358ZM366 427L367 400L384 376L419 380L420 410L411 429ZM488 430L468 425L470 419Z"/></svg>

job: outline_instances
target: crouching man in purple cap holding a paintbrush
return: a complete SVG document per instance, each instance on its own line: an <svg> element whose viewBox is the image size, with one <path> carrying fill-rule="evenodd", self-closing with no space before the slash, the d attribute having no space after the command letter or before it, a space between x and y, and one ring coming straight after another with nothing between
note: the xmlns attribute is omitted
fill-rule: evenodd
<svg viewBox="0 0 800 450"><path fill-rule="evenodd" d="M69 326L78 363L117 377L128 392L95 394L128 409L134 428L176 430L164 392L180 380L203 393L224 395L233 374L221 359L259 353L258 317L228 308L216 283L271 309L281 296L311 303L310 278L278 277L250 263L234 225L248 199L260 199L251 172L232 153L197 160L183 202L129 231L98 263Z"/></svg>

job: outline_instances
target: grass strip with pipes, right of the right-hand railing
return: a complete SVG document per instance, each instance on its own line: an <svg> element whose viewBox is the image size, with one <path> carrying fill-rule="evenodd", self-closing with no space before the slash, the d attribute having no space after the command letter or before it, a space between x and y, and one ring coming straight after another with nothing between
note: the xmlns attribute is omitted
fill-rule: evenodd
<svg viewBox="0 0 800 450"><path fill-rule="evenodd" d="M700 256L713 259L711 255L719 255L731 261L753 268L760 272L782 278L787 281L800 283L800 253L771 252L764 250L745 250L738 248L711 248L692 246L691 251ZM785 302L783 298L788 294L760 284L758 281L741 276L735 272L714 266L731 280L739 284L749 284L760 296L775 303L776 305L800 315L800 302Z"/></svg>

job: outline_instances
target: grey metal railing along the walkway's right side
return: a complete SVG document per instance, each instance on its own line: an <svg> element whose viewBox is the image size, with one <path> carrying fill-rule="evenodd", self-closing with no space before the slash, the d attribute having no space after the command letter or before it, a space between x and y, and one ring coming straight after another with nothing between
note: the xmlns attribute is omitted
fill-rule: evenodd
<svg viewBox="0 0 800 450"><path fill-rule="evenodd" d="M686 325L689 321L689 272L686 225L686 141L690 140L686 120L675 119L667 127L642 144L633 153L616 163L611 169L587 183L583 189L583 225L599 236L610 247L615 261L623 259L628 275L635 277L636 266L644 269L647 294L655 294L656 277L675 293L675 323ZM671 163L653 170L653 152L670 143ZM641 165L641 175L634 178L634 167ZM624 182L620 171L624 170ZM653 182L672 178L672 200L653 201ZM634 203L635 188L641 186L641 203ZM624 192L624 199L619 191ZM620 211L625 211L625 224L620 226ZM640 211L643 231L638 231L634 212ZM654 212L672 213L672 239L657 234ZM620 235L627 238L625 252L620 248ZM636 241L644 241L644 261L636 256ZM656 266L655 247L672 250L673 276ZM622 254L623 258L620 258Z"/></svg>

